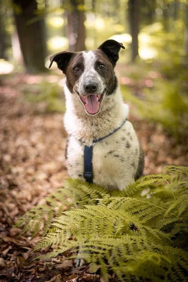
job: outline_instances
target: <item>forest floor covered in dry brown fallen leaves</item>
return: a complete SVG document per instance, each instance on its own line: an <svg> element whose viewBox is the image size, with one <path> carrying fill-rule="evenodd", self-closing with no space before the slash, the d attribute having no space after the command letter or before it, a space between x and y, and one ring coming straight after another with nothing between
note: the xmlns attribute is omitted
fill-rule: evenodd
<svg viewBox="0 0 188 282"><path fill-rule="evenodd" d="M31 104L15 85L32 76L0 81L0 281L103 281L89 266L75 268L67 257L34 260L39 237L31 239L14 228L19 216L44 196L61 187L68 177L64 152L63 114L46 113L43 102ZM160 126L130 116L145 153L144 174L159 173L166 165L187 165L187 144L176 144ZM38 252L39 253L39 252ZM37 253L37 254L38 254ZM113 275L110 281L118 281Z"/></svg>

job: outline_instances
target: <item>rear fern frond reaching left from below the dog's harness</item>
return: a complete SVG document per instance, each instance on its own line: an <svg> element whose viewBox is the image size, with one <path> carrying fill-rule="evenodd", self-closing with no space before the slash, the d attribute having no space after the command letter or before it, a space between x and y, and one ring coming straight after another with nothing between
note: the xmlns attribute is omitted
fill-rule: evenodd
<svg viewBox="0 0 188 282"><path fill-rule="evenodd" d="M97 204L99 200L105 200L110 195L95 184L83 183L80 180L67 179L64 187L47 196L45 204L38 205L26 212L16 222L17 227L23 227L23 233L29 232L35 237L43 228L42 236L50 230L55 216L60 216L64 210L82 207L86 204ZM36 228L37 227L37 228Z"/></svg>

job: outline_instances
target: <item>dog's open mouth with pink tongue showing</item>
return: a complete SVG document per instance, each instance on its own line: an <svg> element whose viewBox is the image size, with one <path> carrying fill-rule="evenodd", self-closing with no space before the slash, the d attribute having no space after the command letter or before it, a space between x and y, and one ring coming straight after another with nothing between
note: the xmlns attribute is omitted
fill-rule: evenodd
<svg viewBox="0 0 188 282"><path fill-rule="evenodd" d="M100 109L100 104L102 102L104 93L100 95L87 95L87 96L81 96L79 94L80 100L85 105L86 111L88 114L97 114Z"/></svg>

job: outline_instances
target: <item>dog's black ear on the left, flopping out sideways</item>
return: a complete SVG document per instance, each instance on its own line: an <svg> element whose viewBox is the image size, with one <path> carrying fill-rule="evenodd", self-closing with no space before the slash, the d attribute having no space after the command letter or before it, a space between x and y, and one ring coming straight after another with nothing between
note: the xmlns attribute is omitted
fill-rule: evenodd
<svg viewBox="0 0 188 282"><path fill-rule="evenodd" d="M52 66L53 61L55 61L58 68L65 73L68 62L73 54L74 52L63 51L51 56L49 68Z"/></svg>

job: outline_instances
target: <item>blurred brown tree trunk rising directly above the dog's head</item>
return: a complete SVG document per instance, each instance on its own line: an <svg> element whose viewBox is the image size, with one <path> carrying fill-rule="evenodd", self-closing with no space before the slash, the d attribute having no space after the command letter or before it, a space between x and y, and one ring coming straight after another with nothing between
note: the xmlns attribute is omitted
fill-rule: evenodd
<svg viewBox="0 0 188 282"><path fill-rule="evenodd" d="M84 26L85 13L78 9L78 1L71 0L71 10L67 14L67 33L69 39L69 51L83 51L85 47L86 30ZM84 1L79 1L84 5Z"/></svg>

